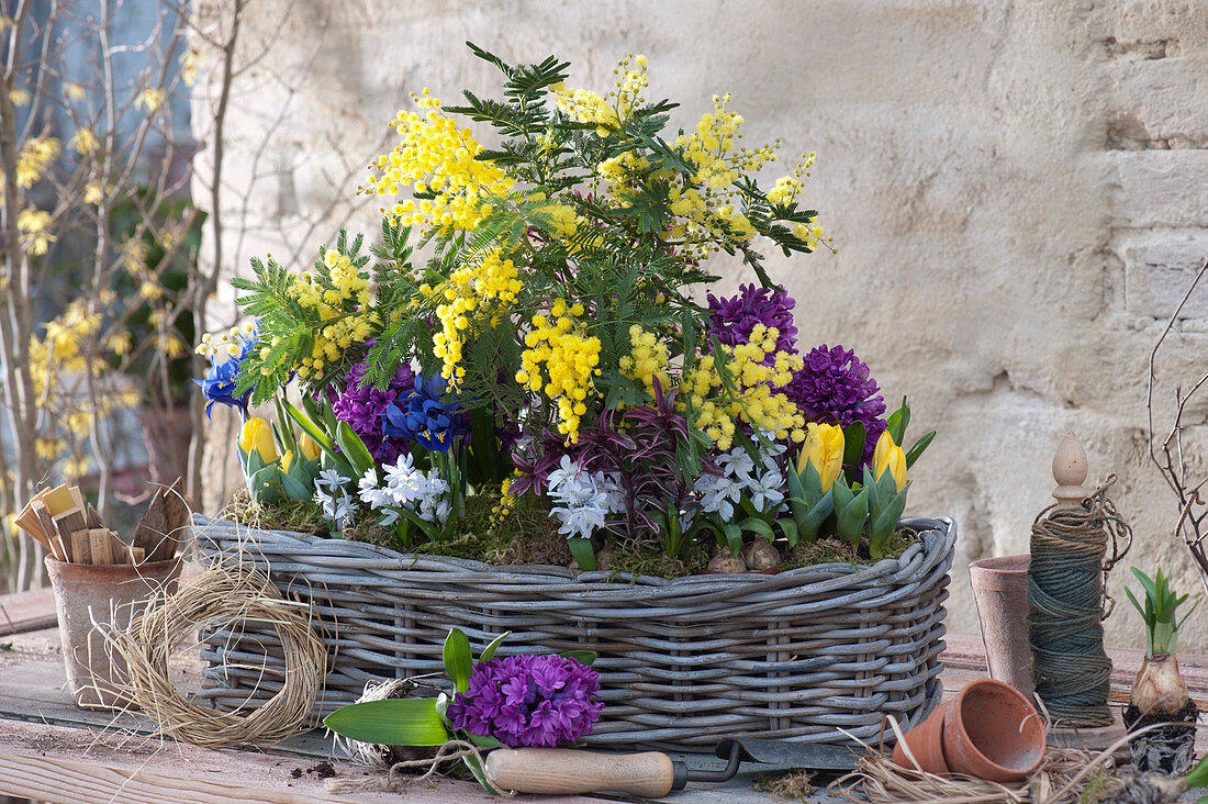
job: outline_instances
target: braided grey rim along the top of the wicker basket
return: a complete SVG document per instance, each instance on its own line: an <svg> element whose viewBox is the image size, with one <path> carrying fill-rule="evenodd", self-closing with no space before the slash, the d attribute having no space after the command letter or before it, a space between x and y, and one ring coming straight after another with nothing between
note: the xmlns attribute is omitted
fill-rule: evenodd
<svg viewBox="0 0 1208 804"><path fill-rule="evenodd" d="M577 585L586 584L597 591L629 590L634 588L647 588L650 591L661 594L693 595L704 591L704 588L716 589L719 583L730 588L741 588L747 595L761 591L783 590L785 586L800 586L805 583L819 584L832 582L836 585L849 586L865 580L870 583L893 584L895 582L908 582L918 578L936 566L945 563L945 556L951 554L957 539L956 521L947 516L939 517L904 517L899 520L900 526L916 528L919 539L906 548L896 559L882 559L876 563L847 563L830 562L785 569L776 574L760 573L727 573L727 574L697 574L680 578L660 578L656 575L637 575L628 572L611 571L582 571L577 568L562 567L557 565L488 565L472 559L459 559L426 553L399 553L389 548L383 548L366 542L352 542L345 539L332 539L327 537L300 533L295 531L263 530L243 525L230 519L210 517L204 514L193 514L192 526L194 538L203 545L204 542L217 543L215 536L207 537L210 528L217 526L225 531L234 531L240 534L240 545L250 540L252 544L275 544L278 550L294 553L300 559L307 554L314 556L327 556L338 561L347 561L347 569L370 567L368 561L384 561L389 563L389 569L418 571L432 574L465 574L478 575L476 580L483 583L501 584L541 584L541 585ZM266 538L267 537L267 538ZM292 544L290 544L292 543ZM211 548L210 551L217 551ZM255 555L255 549L249 553ZM338 571L341 567L332 565L329 571ZM374 567L377 568L377 567ZM387 568L387 567L381 567Z"/></svg>

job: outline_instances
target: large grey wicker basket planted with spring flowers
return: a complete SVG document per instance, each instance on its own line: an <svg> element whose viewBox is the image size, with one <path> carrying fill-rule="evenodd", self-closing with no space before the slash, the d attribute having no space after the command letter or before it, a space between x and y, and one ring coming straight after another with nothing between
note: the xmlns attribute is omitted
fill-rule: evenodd
<svg viewBox="0 0 1208 804"><path fill-rule="evenodd" d="M608 706L587 741L687 751L738 735L846 741L838 728L875 741L885 715L908 729L939 704L957 528L902 524L920 540L873 566L667 580L490 567L194 517L203 555L255 561L321 620L331 672L316 718L366 682L441 673L455 625L475 650L512 631L501 653L598 652ZM280 687L274 642L268 625L209 634L204 695L220 708L267 701Z"/></svg>

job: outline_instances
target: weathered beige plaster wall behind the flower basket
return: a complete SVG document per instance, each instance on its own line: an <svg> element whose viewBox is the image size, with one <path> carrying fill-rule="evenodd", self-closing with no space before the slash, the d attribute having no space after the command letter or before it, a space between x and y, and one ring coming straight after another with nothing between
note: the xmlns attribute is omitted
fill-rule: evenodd
<svg viewBox="0 0 1208 804"><path fill-rule="evenodd" d="M496 86L463 40L510 60L553 52L596 89L617 57L643 52L649 96L683 103L676 123L730 91L753 140L818 152L807 196L838 254L772 272L798 300L806 343L854 347L887 399L908 394L919 427L940 430L911 507L959 522L954 629L977 627L965 563L1027 550L1067 429L1092 482L1120 478L1128 562L1197 588L1146 459L1145 380L1208 253L1208 4L252 0L242 23L242 58L268 53L237 77L226 121L230 270L310 255L349 214L372 226L345 191L406 93ZM1160 361L1163 399L1208 370L1208 288L1186 312ZM1139 644L1123 606L1108 631ZM1181 644L1208 650L1208 609Z"/></svg>

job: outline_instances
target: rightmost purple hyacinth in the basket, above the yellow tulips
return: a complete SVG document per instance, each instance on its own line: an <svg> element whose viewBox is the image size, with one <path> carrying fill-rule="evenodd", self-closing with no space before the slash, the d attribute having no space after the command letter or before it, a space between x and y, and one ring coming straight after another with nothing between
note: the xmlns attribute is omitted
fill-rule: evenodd
<svg viewBox="0 0 1208 804"><path fill-rule="evenodd" d="M784 388L807 422L842 427L864 422L867 438L861 464L872 459L877 439L885 429L881 418L885 399L879 391L876 380L869 376L869 366L855 352L825 343L805 355L805 365Z"/></svg>

